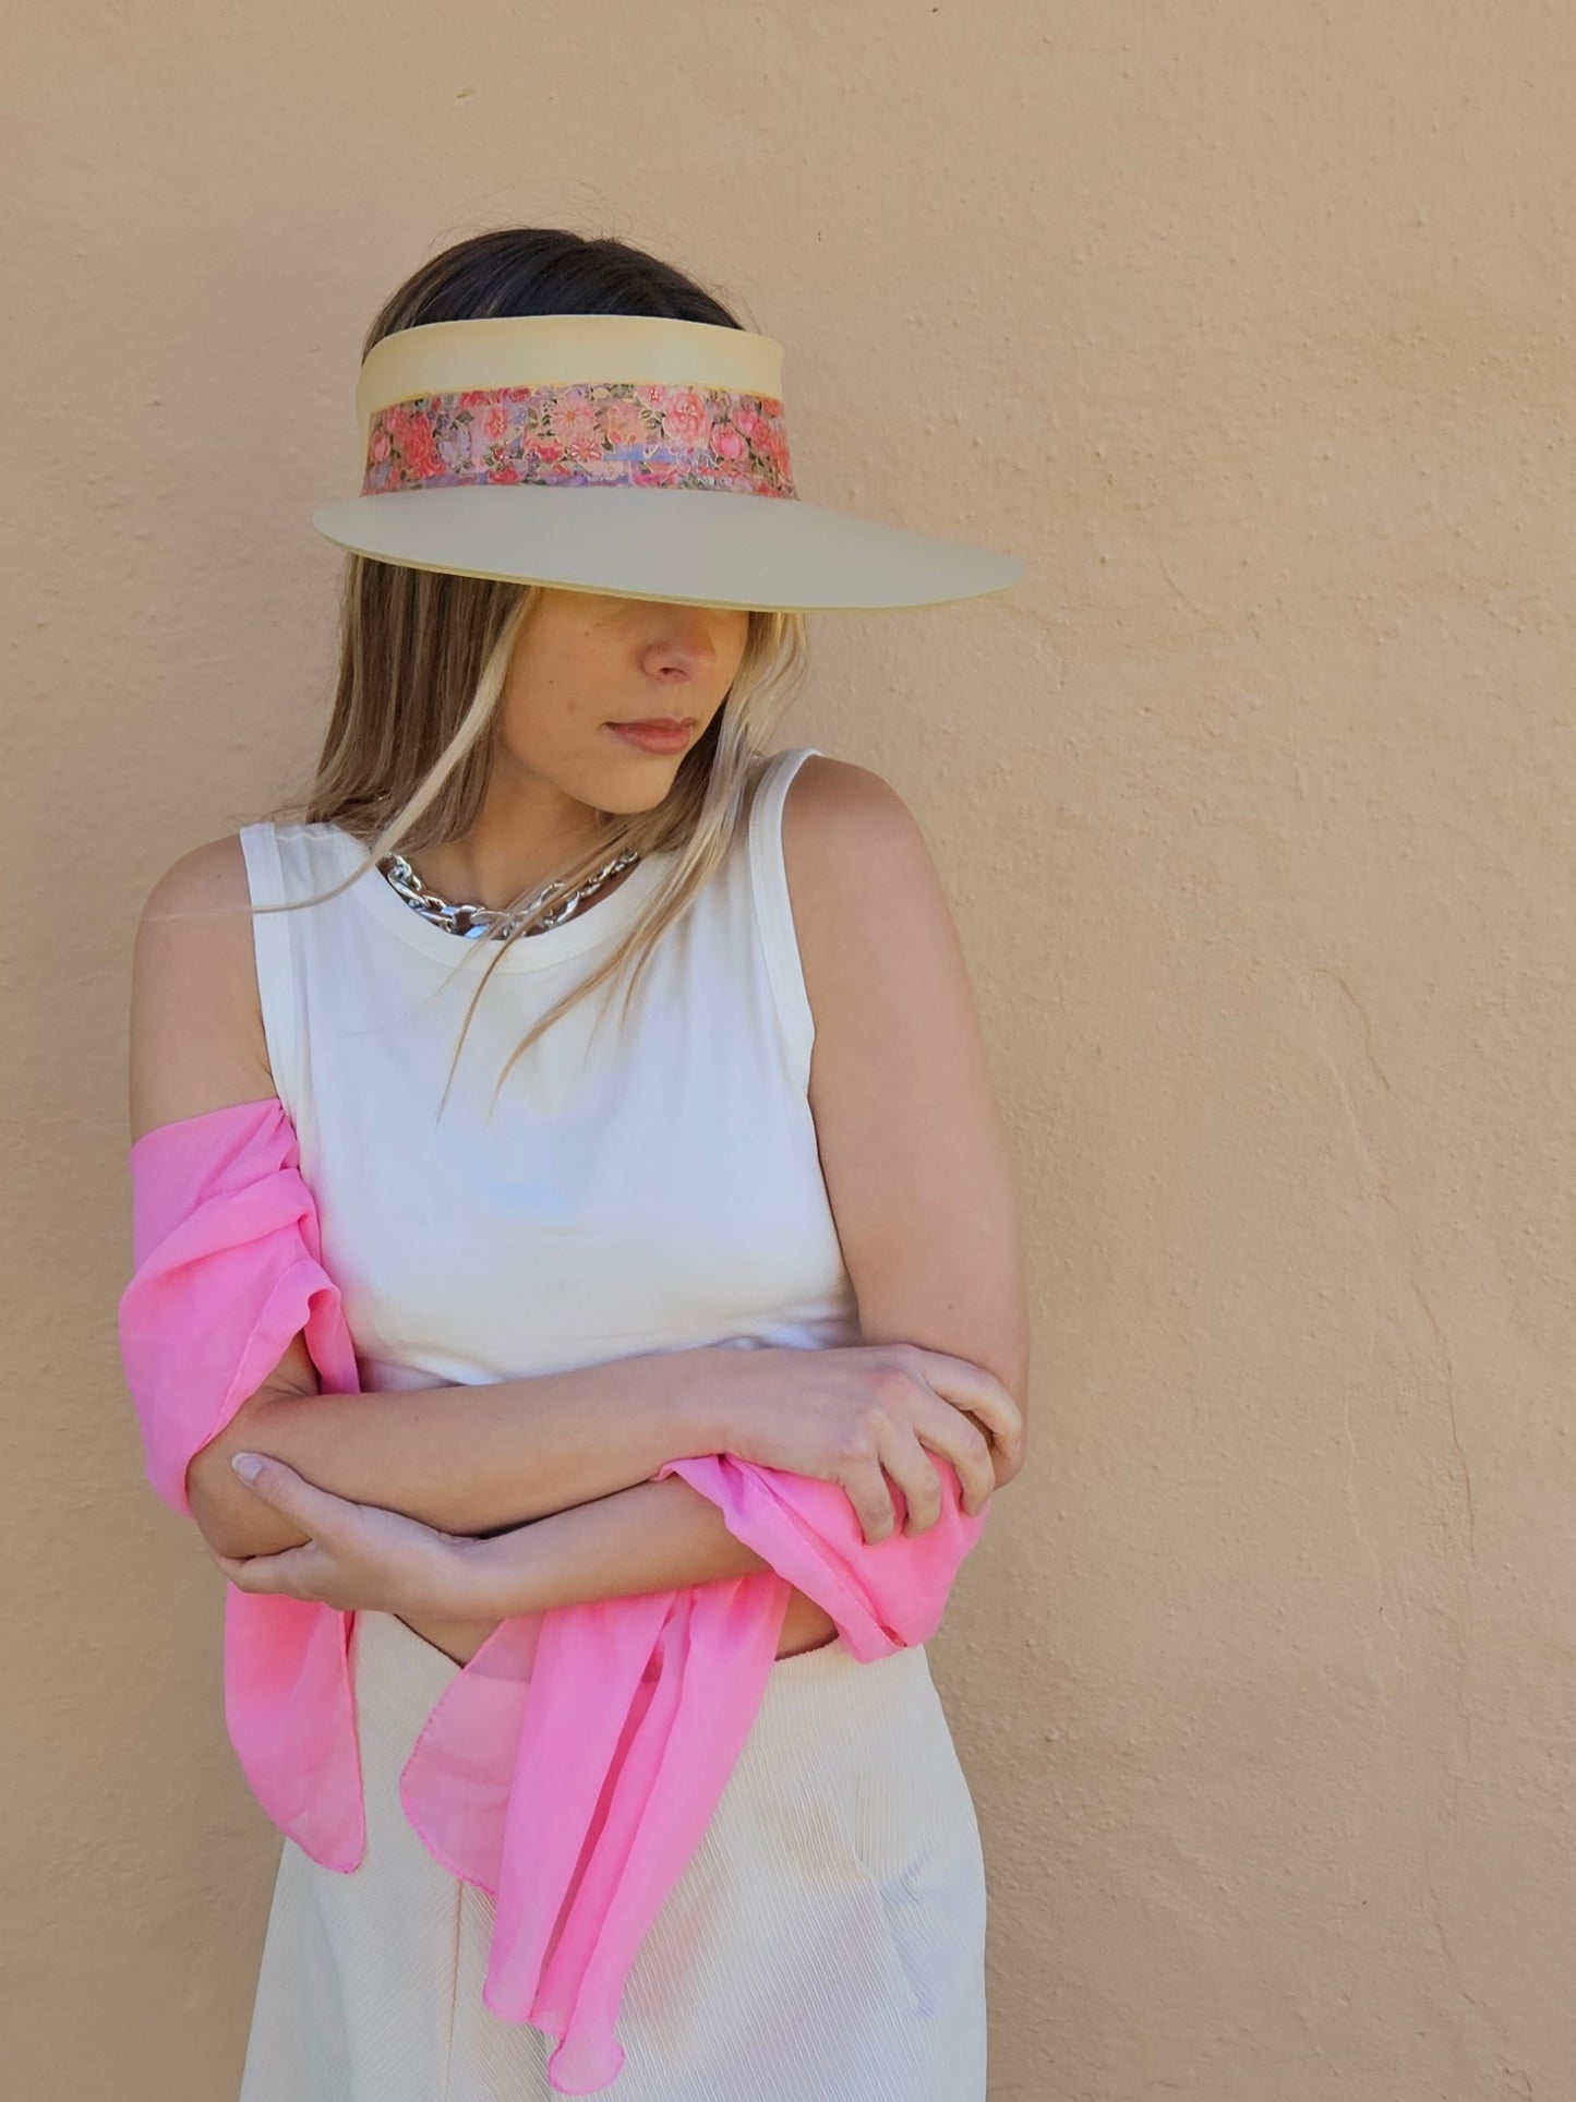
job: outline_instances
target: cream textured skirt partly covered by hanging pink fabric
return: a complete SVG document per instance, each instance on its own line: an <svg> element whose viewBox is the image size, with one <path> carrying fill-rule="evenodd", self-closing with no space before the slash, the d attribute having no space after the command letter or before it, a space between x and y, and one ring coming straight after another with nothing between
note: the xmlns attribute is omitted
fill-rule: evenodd
<svg viewBox="0 0 1576 2102"><path fill-rule="evenodd" d="M343 1875L284 1839L240 2102L555 2102L548 2039L481 2003L492 1898L399 1804L458 1669L355 1616L366 1854ZM771 1667L618 2041L605 2102L986 2102L979 1825L922 1646Z"/></svg>

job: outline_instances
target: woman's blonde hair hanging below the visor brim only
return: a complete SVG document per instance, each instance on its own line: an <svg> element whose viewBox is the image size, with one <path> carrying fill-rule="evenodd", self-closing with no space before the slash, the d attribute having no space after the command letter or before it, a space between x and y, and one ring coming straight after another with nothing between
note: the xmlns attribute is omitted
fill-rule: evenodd
<svg viewBox="0 0 1576 2102"><path fill-rule="evenodd" d="M540 603L534 584L450 576L347 555L340 601L338 687L311 786L267 813L275 822L330 822L366 847L361 866L313 898L254 904L252 912L292 912L326 904L389 853L414 853L462 837L477 820L502 721L509 662ZM809 664L805 616L752 612L733 683L656 809L603 818L586 851L557 879L582 883L622 849L677 853L666 881L645 900L616 948L572 986L515 1045L498 1083L578 1001L626 973L624 1015L660 935L721 864L742 822L746 799L775 725L792 704ZM378 874L382 881L382 874ZM523 893L511 900L523 904ZM492 950L464 1013L439 1114L488 980L511 942L530 940L551 900L506 937L456 935L456 971L477 950ZM586 910L595 912L595 904ZM452 982L452 973L450 973ZM439 988L441 990L441 988ZM490 1104L490 1114L492 1114Z"/></svg>

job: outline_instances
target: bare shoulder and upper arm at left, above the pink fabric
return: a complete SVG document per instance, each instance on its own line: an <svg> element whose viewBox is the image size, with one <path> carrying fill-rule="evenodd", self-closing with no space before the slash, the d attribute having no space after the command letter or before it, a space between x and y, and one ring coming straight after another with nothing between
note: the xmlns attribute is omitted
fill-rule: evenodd
<svg viewBox="0 0 1576 2102"><path fill-rule="evenodd" d="M273 1093L240 832L189 847L137 921L130 996L132 1137Z"/></svg>

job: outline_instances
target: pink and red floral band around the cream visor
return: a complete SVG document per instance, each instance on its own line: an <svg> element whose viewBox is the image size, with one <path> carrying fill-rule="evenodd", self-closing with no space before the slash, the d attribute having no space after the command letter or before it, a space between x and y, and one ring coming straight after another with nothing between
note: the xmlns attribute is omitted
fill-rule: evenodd
<svg viewBox="0 0 1576 2102"><path fill-rule="evenodd" d="M485 481L794 496L782 401L721 387L471 387L376 410L364 496Z"/></svg>

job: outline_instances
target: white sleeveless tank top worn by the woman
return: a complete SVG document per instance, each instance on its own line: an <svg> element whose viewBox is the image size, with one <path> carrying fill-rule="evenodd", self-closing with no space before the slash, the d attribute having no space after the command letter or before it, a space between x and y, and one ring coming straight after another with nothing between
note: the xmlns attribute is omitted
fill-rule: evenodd
<svg viewBox="0 0 1576 2102"><path fill-rule="evenodd" d="M859 1339L809 1112L813 1017L782 803L813 746L759 769L723 864L624 975L525 1030L601 961L672 853L511 942L439 1097L490 937L422 919L368 868L252 921L275 1091L317 1200L368 1389L521 1379L702 1343ZM340 881L336 824L240 832L254 904ZM460 950L464 969L454 971Z"/></svg>

